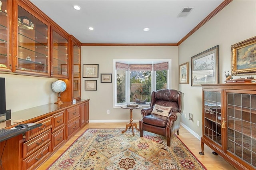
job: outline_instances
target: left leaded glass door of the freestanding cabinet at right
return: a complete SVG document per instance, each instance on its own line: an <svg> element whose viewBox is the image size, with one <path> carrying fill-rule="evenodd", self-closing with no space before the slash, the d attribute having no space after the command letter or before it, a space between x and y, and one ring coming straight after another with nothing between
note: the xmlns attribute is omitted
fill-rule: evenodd
<svg viewBox="0 0 256 170"><path fill-rule="evenodd" d="M204 128L203 135L222 148L222 111L221 111L221 91L204 90Z"/></svg>

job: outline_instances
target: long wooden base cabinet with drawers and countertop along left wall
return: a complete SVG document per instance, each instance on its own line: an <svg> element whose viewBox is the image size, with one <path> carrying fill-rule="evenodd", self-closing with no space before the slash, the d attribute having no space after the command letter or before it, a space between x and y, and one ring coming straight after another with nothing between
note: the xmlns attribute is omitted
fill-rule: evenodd
<svg viewBox="0 0 256 170"><path fill-rule="evenodd" d="M40 110L52 110L56 104L40 106ZM37 108L26 109L25 113L35 113ZM40 112L40 111L38 111ZM17 116L21 112L17 113ZM23 113L23 112L22 112ZM15 119L16 113L13 117ZM26 115L24 115L26 117ZM31 117L31 116L30 116ZM70 139L89 120L89 99L76 104L64 103L59 109L45 113L22 123L42 123L42 126L29 130L14 138L0 143L1 168L5 170L36 169L46 161L56 150ZM12 125L8 128L14 127ZM4 149L2 149L4 148ZM9 165L12 162L12 165Z"/></svg>

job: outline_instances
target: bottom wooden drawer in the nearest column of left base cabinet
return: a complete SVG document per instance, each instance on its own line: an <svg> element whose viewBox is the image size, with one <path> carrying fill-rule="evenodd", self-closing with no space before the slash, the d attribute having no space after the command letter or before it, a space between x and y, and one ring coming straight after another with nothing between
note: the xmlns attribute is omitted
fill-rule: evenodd
<svg viewBox="0 0 256 170"><path fill-rule="evenodd" d="M23 160L24 170L36 169L42 162L48 159L48 155L51 152L51 142L48 142L45 146L40 148L34 154L28 156L28 158Z"/></svg>

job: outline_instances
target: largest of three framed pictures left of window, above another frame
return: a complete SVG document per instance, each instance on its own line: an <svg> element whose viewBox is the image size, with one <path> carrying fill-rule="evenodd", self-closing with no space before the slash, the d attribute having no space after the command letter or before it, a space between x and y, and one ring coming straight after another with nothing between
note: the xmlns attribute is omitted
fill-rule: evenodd
<svg viewBox="0 0 256 170"><path fill-rule="evenodd" d="M99 78L99 65L83 64L83 78Z"/></svg>

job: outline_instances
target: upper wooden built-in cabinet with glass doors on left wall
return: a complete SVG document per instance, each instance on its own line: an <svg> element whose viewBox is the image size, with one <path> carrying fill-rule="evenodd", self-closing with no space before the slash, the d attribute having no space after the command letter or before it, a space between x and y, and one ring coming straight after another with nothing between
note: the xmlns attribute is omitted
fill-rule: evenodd
<svg viewBox="0 0 256 170"><path fill-rule="evenodd" d="M61 100L81 99L81 42L28 0L2 0L0 71L66 82Z"/></svg>

